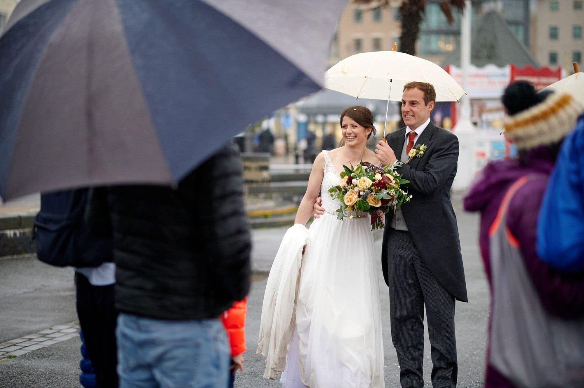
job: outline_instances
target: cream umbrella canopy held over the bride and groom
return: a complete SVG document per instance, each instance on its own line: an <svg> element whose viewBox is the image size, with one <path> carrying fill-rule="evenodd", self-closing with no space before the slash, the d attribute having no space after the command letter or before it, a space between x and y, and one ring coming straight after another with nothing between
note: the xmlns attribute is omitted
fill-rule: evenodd
<svg viewBox="0 0 584 388"><path fill-rule="evenodd" d="M443 68L397 51L355 54L325 73L325 88L357 99L401 101L404 85L412 81L432 83L436 101L458 101L465 94Z"/></svg>

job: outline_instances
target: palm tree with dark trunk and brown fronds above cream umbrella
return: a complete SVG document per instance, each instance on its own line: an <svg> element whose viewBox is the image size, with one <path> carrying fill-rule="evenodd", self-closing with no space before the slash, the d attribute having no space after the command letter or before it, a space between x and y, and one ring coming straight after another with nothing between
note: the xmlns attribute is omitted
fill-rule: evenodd
<svg viewBox="0 0 584 388"><path fill-rule="evenodd" d="M355 4L366 4L388 7L390 0L353 0ZM453 8L464 9L464 0L444 0L440 2L440 9L446 16L449 24L454 22ZM399 36L399 51L416 55L416 41L420 36L420 23L426 11L426 0L404 0L399 6L401 19L401 36Z"/></svg>

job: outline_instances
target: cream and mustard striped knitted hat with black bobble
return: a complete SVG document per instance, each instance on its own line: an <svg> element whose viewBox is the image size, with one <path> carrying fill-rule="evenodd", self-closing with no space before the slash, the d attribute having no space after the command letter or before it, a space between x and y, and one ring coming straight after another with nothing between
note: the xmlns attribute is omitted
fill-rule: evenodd
<svg viewBox="0 0 584 388"><path fill-rule="evenodd" d="M507 106L506 97L509 100L507 91L506 96L503 96L503 103L509 113L512 113L518 104L524 104L517 102L509 103ZM505 136L515 143L518 149L528 150L559 142L573 130L576 120L584 113L584 104L569 93L533 96L527 91L526 95L515 97L524 97L521 99L533 102L528 103L529 107L517 109L518 113L505 117Z"/></svg>

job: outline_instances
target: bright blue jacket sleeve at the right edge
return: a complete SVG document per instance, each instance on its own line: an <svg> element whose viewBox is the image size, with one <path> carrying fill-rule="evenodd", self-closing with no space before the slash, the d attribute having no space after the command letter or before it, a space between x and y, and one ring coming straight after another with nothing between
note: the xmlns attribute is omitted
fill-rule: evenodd
<svg viewBox="0 0 584 388"><path fill-rule="evenodd" d="M584 270L584 116L564 140L537 228L537 252L562 271Z"/></svg>

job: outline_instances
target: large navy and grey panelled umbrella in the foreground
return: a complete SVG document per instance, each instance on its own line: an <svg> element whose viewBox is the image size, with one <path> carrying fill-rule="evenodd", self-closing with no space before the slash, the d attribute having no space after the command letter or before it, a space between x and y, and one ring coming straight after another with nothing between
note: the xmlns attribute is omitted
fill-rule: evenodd
<svg viewBox="0 0 584 388"><path fill-rule="evenodd" d="M22 0L0 39L0 195L171 184L319 90L347 0Z"/></svg>

